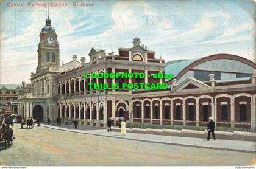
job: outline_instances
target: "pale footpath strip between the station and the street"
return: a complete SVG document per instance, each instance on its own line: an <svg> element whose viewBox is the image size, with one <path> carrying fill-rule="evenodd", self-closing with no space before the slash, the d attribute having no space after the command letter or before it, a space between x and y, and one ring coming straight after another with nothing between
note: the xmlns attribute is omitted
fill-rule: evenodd
<svg viewBox="0 0 256 169"><path fill-rule="evenodd" d="M119 128L113 128L115 131L107 132L106 129L93 128L88 126L79 126L78 129L74 129L74 125L46 125L41 124L40 126L57 129L60 131L90 134L93 136L101 137L113 137L115 139L126 139L135 140L140 142L150 143L161 143L165 145L177 145L182 147L196 147L196 148L208 148L214 150L224 151L237 151L243 153L254 153L256 152L256 142L241 141L241 140L223 140L223 139L210 139L209 141L202 138L195 137L178 137L178 136L162 136L155 134L144 134L144 133L129 133L127 135L121 135L118 130Z"/></svg>

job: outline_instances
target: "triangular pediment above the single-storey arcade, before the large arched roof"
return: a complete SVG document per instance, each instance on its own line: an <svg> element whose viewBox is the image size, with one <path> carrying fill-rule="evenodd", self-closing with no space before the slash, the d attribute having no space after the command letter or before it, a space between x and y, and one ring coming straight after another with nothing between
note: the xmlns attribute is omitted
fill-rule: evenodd
<svg viewBox="0 0 256 169"><path fill-rule="evenodd" d="M187 80L180 83L174 89L173 92L178 93L194 93L194 92L204 92L204 91L213 91L214 89L207 84L202 83L202 81L195 78L187 78Z"/></svg>

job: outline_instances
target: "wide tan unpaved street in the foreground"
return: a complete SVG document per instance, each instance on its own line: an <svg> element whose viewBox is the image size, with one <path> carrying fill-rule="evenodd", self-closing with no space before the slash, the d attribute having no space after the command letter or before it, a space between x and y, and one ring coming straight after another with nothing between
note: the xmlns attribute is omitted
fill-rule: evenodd
<svg viewBox="0 0 256 169"><path fill-rule="evenodd" d="M0 165L246 165L253 153L91 136L35 126L13 128ZM3 143L1 143L4 146Z"/></svg>

